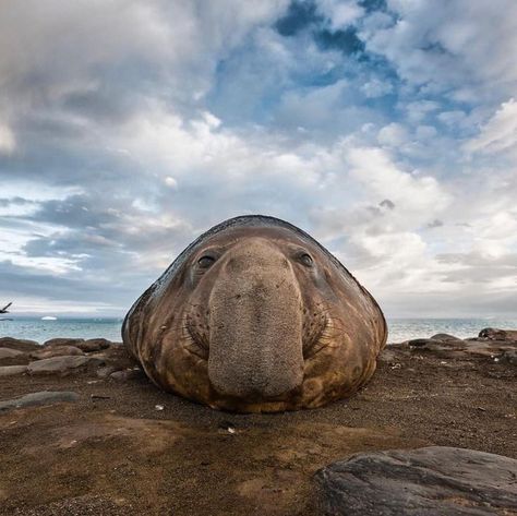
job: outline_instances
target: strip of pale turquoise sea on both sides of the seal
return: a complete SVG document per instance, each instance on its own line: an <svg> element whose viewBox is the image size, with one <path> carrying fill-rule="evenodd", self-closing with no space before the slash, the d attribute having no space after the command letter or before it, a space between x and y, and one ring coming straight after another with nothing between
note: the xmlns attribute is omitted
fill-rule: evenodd
<svg viewBox="0 0 517 516"><path fill-rule="evenodd" d="M388 319L388 343L431 337L447 333L456 337L476 337L485 327L517 329L517 319ZM121 341L120 319L69 319L41 321L38 317L12 316L0 321L0 337L15 337L45 343L53 337L96 338Z"/></svg>

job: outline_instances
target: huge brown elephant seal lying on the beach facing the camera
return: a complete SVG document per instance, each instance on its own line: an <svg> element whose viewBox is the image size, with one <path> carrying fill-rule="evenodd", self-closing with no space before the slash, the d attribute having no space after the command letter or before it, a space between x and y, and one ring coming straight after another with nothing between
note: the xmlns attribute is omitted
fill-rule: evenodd
<svg viewBox="0 0 517 516"><path fill-rule="evenodd" d="M353 394L386 343L373 297L284 220L226 220L133 304L130 353L159 387L213 408L275 412Z"/></svg>

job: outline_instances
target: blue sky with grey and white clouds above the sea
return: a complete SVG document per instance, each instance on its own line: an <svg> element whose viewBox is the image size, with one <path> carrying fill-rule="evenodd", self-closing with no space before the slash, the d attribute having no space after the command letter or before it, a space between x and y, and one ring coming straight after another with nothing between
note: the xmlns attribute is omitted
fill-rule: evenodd
<svg viewBox="0 0 517 516"><path fill-rule="evenodd" d="M517 312L515 0L0 3L0 304L123 315L243 214L390 317Z"/></svg>

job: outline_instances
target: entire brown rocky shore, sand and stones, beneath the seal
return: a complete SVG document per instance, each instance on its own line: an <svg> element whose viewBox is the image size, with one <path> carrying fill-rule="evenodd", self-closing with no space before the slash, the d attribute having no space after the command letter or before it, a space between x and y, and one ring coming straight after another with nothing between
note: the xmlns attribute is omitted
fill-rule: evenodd
<svg viewBox="0 0 517 516"><path fill-rule="evenodd" d="M106 339L3 337L0 514L517 514L516 387L494 328L390 345L357 396L273 416L163 393Z"/></svg>

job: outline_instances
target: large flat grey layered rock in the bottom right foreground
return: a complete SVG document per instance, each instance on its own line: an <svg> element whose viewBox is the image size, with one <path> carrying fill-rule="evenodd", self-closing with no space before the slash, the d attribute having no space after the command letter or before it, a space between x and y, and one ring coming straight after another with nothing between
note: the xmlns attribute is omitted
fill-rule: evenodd
<svg viewBox="0 0 517 516"><path fill-rule="evenodd" d="M517 511L517 460L430 446L357 454L317 471L327 515L467 516Z"/></svg>

